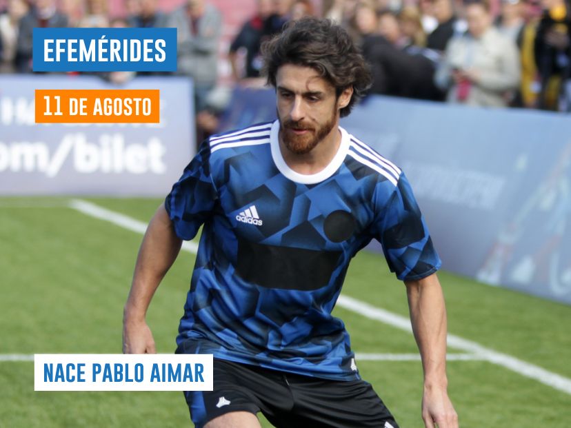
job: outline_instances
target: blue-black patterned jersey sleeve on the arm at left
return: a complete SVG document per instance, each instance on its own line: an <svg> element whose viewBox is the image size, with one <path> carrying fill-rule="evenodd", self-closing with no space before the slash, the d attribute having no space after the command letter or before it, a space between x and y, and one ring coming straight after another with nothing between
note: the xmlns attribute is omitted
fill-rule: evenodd
<svg viewBox="0 0 571 428"><path fill-rule="evenodd" d="M200 226L212 216L217 195L210 170L210 145L205 141L165 199L166 211L179 238L190 240L196 236Z"/></svg>

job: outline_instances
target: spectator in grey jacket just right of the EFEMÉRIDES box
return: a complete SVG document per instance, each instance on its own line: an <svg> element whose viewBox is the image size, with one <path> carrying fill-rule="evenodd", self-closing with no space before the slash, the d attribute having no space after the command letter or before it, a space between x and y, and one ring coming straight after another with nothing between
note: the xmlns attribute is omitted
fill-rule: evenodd
<svg viewBox="0 0 571 428"><path fill-rule="evenodd" d="M200 112L218 78L221 14L206 0L187 0L172 13L169 26L177 28L178 73L192 77L194 106Z"/></svg>

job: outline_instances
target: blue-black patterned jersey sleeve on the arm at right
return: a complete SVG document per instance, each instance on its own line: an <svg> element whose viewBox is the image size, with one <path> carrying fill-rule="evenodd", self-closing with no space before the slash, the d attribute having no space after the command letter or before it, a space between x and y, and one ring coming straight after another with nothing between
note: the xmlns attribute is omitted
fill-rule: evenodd
<svg viewBox="0 0 571 428"><path fill-rule="evenodd" d="M405 175L401 173L390 194L379 187L376 191L374 237L383 246L390 271L401 281L419 280L436 272L442 263Z"/></svg>

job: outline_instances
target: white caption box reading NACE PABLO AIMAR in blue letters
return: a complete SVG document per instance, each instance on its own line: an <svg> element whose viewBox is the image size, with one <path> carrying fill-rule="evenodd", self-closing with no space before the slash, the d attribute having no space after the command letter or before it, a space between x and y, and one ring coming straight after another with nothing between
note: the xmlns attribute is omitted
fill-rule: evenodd
<svg viewBox="0 0 571 428"><path fill-rule="evenodd" d="M212 391L212 355L35 354L34 391Z"/></svg>

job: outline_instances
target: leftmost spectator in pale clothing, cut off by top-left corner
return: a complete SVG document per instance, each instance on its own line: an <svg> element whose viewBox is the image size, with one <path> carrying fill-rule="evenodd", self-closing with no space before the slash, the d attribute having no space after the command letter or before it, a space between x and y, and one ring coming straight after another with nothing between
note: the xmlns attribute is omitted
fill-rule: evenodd
<svg viewBox="0 0 571 428"><path fill-rule="evenodd" d="M28 9L24 0L9 0L8 10L0 14L0 73L16 72L18 28Z"/></svg>

